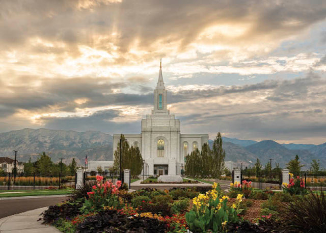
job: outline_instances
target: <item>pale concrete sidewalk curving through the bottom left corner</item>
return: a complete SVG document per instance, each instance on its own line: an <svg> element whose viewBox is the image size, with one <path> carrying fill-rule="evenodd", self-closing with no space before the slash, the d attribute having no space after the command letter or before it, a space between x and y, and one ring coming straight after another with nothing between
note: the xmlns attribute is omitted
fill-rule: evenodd
<svg viewBox="0 0 326 233"><path fill-rule="evenodd" d="M0 233L60 233L56 227L37 221L45 210L47 207L0 219Z"/></svg>

